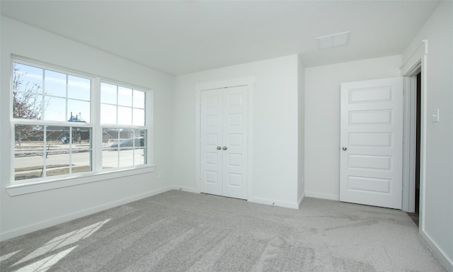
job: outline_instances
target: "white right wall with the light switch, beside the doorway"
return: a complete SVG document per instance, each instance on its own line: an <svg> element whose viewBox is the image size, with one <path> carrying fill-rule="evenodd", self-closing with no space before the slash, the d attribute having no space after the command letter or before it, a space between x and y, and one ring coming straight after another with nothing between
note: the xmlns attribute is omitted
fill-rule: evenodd
<svg viewBox="0 0 453 272"><path fill-rule="evenodd" d="M443 1L437 7L404 52L403 60L422 40L428 40L428 55L423 67L427 123L425 180L421 181L425 208L421 209L420 232L453 271L453 2ZM437 108L440 122L432 123L430 115Z"/></svg>

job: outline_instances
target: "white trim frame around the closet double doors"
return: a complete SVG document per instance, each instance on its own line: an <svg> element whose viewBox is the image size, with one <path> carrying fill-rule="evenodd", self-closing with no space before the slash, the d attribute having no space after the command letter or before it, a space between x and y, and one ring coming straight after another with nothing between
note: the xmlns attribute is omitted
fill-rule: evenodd
<svg viewBox="0 0 453 272"><path fill-rule="evenodd" d="M247 86L248 88L248 139L247 139L247 200L252 197L253 185L253 87L255 76L231 77L212 81L200 81L195 83L195 188L201 193L201 92L212 89L222 89L236 86Z"/></svg>

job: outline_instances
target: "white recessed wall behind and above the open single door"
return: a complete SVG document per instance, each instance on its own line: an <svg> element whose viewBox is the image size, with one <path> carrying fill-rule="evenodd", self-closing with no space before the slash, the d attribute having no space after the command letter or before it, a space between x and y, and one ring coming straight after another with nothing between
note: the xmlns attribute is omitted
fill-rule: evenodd
<svg viewBox="0 0 453 272"><path fill-rule="evenodd" d="M401 56L305 69L305 196L339 200L340 84L399 77Z"/></svg>

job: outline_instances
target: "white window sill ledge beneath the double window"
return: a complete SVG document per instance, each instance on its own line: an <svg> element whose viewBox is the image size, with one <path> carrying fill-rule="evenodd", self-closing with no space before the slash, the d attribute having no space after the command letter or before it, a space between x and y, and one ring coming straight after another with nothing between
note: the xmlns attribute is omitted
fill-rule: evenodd
<svg viewBox="0 0 453 272"><path fill-rule="evenodd" d="M85 183L92 183L98 181L105 181L107 179L118 179L125 176L134 176L139 174L147 174L154 172L156 166L142 166L135 169L118 169L115 171L103 171L98 173L80 174L78 176L68 176L65 178L11 184L6 187L6 192L9 196L21 196L28 193L36 193L40 191L53 190L57 188L64 188L69 186L76 186Z"/></svg>

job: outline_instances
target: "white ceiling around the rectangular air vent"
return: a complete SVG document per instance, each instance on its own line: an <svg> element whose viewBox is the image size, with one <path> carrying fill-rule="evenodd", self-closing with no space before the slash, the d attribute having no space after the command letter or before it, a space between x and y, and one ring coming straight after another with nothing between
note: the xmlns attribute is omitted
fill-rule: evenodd
<svg viewBox="0 0 453 272"><path fill-rule="evenodd" d="M299 54L400 55L439 1L6 1L1 15L172 75ZM348 45L316 37L350 31Z"/></svg>

